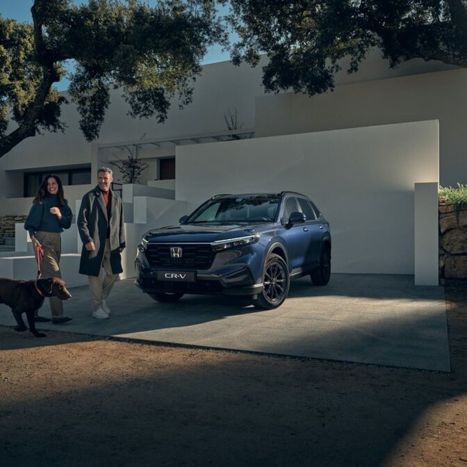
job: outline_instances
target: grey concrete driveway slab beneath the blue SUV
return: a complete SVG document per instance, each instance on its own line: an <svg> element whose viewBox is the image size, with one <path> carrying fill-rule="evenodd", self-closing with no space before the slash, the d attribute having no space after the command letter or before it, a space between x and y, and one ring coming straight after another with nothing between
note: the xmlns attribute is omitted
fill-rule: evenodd
<svg viewBox="0 0 467 467"><path fill-rule="evenodd" d="M444 289L413 286L413 276L332 275L325 287L302 278L282 306L268 311L221 296L160 304L124 279L108 299L108 320L91 317L88 287L71 291L65 313L73 320L38 329L450 371ZM41 314L50 316L48 302ZM15 325L12 313L1 313L0 325Z"/></svg>

